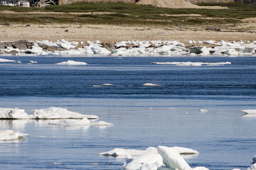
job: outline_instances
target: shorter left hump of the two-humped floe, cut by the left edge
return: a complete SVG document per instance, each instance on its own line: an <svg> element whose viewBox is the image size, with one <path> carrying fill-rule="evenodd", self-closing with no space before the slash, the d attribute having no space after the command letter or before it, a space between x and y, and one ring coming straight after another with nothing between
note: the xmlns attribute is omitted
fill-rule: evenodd
<svg viewBox="0 0 256 170"><path fill-rule="evenodd" d="M29 119L29 116L23 109L0 108L0 119Z"/></svg>

